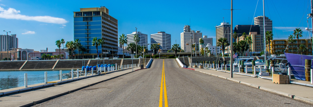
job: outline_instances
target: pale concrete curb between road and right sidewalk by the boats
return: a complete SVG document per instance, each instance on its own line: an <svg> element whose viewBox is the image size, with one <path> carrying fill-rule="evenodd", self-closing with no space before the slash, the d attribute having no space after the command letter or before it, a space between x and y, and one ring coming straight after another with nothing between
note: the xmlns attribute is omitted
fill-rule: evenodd
<svg viewBox="0 0 313 107"><path fill-rule="evenodd" d="M186 69L190 69L190 68L186 68ZM195 69L191 69L191 70L198 71L198 70L195 70ZM198 72L202 72L202 71L198 71ZM298 100L298 101L301 101L301 102L305 102L305 103L308 103L308 104L313 104L313 100L311 100L311 99L298 97L298 96L295 96L295 95L292 95L292 94L287 94L287 93L284 93L284 92L280 92L280 91L276 91L276 90L273 90L273 89L257 86L257 85L254 85L254 84L245 83L245 82L241 82L241 81L230 79L230 78L226 78L226 77L221 77L221 76L218 76L218 75L215 75L215 74L211 74L211 73L207 73L207 72L202 72L202 73L205 73L205 74L208 74L208 75L212 75L212 76L215 76L215 77L218 77L218 78L223 78L223 79L235 82L235 83L240 83L240 84L252 87L252 88L257 88L257 89L260 89L260 90L263 90L263 91L267 91L267 92L270 92L270 93L273 93L273 94L277 94L277 95L280 95L280 96L288 97L288 98L291 98L291 99L294 99L294 100Z"/></svg>

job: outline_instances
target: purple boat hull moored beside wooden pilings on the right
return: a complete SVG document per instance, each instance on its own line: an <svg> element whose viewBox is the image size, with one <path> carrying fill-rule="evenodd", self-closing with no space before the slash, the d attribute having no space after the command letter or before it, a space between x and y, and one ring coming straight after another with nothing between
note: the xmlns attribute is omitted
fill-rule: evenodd
<svg viewBox="0 0 313 107"><path fill-rule="evenodd" d="M312 60L313 56L299 55L293 53L285 53L285 56L287 58L291 72L295 76L295 79L305 81L305 60ZM312 65L313 64L311 62L311 68Z"/></svg>

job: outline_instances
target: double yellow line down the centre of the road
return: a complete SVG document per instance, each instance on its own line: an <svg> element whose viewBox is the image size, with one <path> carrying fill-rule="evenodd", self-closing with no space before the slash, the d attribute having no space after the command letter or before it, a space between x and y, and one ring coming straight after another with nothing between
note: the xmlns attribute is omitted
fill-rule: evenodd
<svg viewBox="0 0 313 107"><path fill-rule="evenodd" d="M160 89L160 102L159 107L162 107L163 103L163 80L164 80L164 105L168 107L167 104L167 94L166 94L166 84L165 84L165 73L164 73L164 59L163 59L163 67L162 67L162 79L161 79L161 89Z"/></svg>

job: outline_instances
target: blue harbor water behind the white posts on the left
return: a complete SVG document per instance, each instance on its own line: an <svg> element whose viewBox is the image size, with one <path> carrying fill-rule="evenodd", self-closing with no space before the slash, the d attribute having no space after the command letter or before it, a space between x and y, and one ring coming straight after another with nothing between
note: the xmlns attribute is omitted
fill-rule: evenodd
<svg viewBox="0 0 313 107"><path fill-rule="evenodd" d="M24 86L24 73L28 75L28 85L44 83L44 72L48 72L48 82L60 80L60 71L1 71L0 90ZM69 72L70 70L62 70L62 73ZM72 76L63 75L62 77L64 79Z"/></svg>

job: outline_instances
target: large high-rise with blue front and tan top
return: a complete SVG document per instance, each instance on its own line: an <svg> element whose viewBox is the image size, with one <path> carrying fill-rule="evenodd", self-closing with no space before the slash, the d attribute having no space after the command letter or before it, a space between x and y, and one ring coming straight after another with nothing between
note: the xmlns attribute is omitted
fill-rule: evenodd
<svg viewBox="0 0 313 107"><path fill-rule="evenodd" d="M84 58L106 57L105 53L116 53L118 50L118 30L117 19L109 15L109 9L100 8L80 8L79 12L74 12L74 40L79 39L81 45L87 49ZM105 43L98 47L92 45L94 38L102 38ZM78 57L78 50L74 51L75 58ZM108 56L109 57L109 56Z"/></svg>

